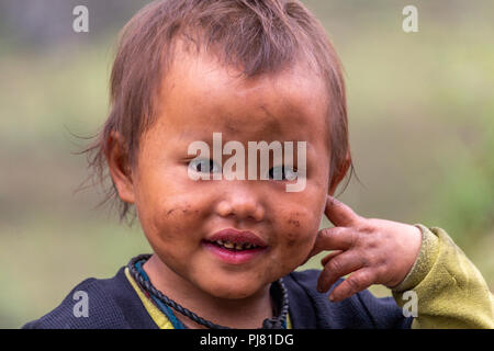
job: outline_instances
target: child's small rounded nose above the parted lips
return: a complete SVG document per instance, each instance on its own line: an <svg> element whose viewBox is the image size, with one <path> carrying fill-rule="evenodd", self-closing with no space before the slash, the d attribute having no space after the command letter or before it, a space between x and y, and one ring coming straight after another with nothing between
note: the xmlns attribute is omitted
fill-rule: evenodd
<svg viewBox="0 0 494 351"><path fill-rule="evenodd" d="M228 191L217 203L216 213L222 217L234 216L237 219L255 219L260 222L265 218L265 207L259 201L259 195L242 186L235 186Z"/></svg>

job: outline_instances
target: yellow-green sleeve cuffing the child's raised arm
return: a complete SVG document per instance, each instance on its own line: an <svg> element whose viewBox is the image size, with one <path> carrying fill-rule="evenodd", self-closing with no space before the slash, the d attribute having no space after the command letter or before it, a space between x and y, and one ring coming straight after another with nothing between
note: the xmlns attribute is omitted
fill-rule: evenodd
<svg viewBox="0 0 494 351"><path fill-rule="evenodd" d="M403 307L407 291L415 292L417 315L412 328L490 328L494 329L494 297L485 280L441 228L422 230L417 260L405 280L392 288Z"/></svg>

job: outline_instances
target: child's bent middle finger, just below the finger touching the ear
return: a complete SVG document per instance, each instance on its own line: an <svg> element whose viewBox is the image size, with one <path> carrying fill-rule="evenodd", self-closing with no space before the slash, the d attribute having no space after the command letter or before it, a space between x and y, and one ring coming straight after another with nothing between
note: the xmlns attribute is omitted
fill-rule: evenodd
<svg viewBox="0 0 494 351"><path fill-rule="evenodd" d="M356 231L352 228L333 227L321 229L308 257L329 250L348 250L355 246Z"/></svg>

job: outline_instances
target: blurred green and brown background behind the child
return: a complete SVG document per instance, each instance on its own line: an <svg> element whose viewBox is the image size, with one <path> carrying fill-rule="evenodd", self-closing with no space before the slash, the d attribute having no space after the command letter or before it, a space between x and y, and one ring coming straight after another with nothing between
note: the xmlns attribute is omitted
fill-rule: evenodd
<svg viewBox="0 0 494 351"><path fill-rule="evenodd" d="M94 210L101 189L75 192L88 171L74 152L87 143L71 135L103 124L117 32L147 2L0 0L1 328L150 251L138 224ZM493 291L494 2L303 2L347 75L360 182L339 199L366 217L442 227ZM89 33L72 31L78 4L89 8ZM418 8L418 33L402 30L406 4Z"/></svg>

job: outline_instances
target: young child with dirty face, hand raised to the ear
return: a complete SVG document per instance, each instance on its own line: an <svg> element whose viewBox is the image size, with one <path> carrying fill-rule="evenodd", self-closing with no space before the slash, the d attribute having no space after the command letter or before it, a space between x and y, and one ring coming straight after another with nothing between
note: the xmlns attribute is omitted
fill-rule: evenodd
<svg viewBox="0 0 494 351"><path fill-rule="evenodd" d="M345 84L301 2L154 2L123 30L111 88L91 166L154 252L24 328L494 328L486 283L445 230L333 197L351 169ZM266 168L239 151L261 140L304 147ZM325 250L322 271L294 271Z"/></svg>

